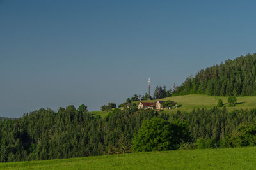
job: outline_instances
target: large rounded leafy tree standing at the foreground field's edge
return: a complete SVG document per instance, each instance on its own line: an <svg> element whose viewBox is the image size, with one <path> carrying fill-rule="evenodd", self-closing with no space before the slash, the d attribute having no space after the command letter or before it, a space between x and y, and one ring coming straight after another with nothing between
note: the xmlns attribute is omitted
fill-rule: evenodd
<svg viewBox="0 0 256 170"><path fill-rule="evenodd" d="M191 138L188 125L184 122L168 122L162 118L152 118L141 125L132 138L132 149L136 152L153 150L173 150Z"/></svg>

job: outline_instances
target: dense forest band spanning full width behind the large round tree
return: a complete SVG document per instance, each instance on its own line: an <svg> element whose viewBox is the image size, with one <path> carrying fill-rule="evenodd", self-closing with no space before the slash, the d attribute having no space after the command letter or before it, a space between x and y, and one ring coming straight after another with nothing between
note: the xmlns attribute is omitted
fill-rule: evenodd
<svg viewBox="0 0 256 170"><path fill-rule="evenodd" d="M57 113L50 109L40 109L15 120L1 120L0 161L62 159L133 152L132 138L139 135L137 133L141 125L156 117L170 122L169 124L157 120L164 124L164 131L165 125L168 125L168 128L174 126L176 129L177 125L182 125L184 129L184 125L188 125L185 134L191 134L190 141L179 136L175 147L170 141L166 141L168 145L161 146L165 150L256 144L256 126L253 125L256 121L256 110L236 110L228 113L224 107L198 109L191 113L177 111L166 115L154 110L138 110L132 107L125 110L115 108L107 117L101 118L91 115L86 106L81 105L77 109L74 106L60 108ZM154 121L151 125L159 126ZM152 133L157 131L156 129ZM172 132L172 139L177 139L173 138L173 135L180 135L181 131L178 131L179 129L168 132ZM168 136L166 133L165 135ZM181 141L184 143L180 143Z"/></svg>

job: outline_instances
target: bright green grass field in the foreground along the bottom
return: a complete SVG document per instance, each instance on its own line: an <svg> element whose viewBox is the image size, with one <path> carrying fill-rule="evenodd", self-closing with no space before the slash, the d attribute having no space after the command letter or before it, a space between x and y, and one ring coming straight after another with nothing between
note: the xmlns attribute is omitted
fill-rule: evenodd
<svg viewBox="0 0 256 170"><path fill-rule="evenodd" d="M256 147L128 153L1 163L0 169L255 169Z"/></svg>

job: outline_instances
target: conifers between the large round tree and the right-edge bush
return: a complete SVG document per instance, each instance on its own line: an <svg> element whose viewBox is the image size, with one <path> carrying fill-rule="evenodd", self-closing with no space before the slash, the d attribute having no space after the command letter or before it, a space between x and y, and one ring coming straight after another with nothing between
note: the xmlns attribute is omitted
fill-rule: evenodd
<svg viewBox="0 0 256 170"><path fill-rule="evenodd" d="M230 135L241 124L254 124L256 122L256 110L234 110L228 113L225 106L221 109L211 110L198 109L191 113L177 113L170 115L170 120L186 120L193 141L197 139L209 139L215 147L226 147L222 145L225 136ZM211 145L212 146L212 145ZM205 147L205 146L204 146Z"/></svg>

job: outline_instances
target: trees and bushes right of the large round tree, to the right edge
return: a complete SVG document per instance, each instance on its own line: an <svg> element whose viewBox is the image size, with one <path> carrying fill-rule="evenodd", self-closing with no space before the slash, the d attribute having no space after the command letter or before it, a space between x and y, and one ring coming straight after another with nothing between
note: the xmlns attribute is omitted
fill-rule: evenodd
<svg viewBox="0 0 256 170"><path fill-rule="evenodd" d="M256 109L228 112L224 106L223 108L214 107L210 110L194 109L190 113L177 111L170 115L171 122L177 119L188 122L193 136L193 143L188 145L191 148L195 148L195 146L197 148L256 146L256 131L253 131L256 122ZM241 129L250 129L246 138L253 139L254 143L245 144L245 134L239 132Z"/></svg>

